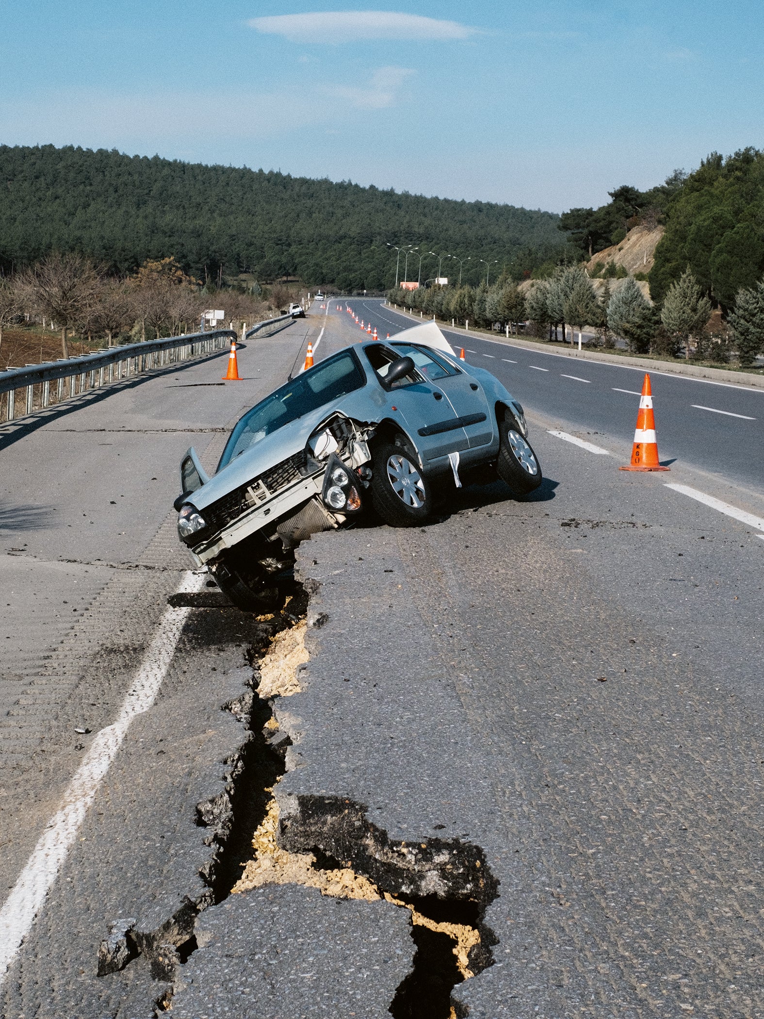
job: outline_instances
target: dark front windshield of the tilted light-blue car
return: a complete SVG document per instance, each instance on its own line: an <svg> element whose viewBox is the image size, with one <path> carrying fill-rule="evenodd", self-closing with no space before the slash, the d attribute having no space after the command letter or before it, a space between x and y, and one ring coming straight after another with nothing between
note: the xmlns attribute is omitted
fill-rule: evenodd
<svg viewBox="0 0 764 1019"><path fill-rule="evenodd" d="M365 383L366 376L351 351L322 361L256 404L241 418L225 444L218 471L271 432L360 389Z"/></svg>

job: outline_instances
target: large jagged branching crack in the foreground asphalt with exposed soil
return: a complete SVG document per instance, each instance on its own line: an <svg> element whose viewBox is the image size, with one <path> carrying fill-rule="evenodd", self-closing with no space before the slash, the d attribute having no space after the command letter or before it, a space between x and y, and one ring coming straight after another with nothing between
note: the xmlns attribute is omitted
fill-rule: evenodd
<svg viewBox="0 0 764 1019"><path fill-rule="evenodd" d="M163 1014L172 1008L182 966L197 951L203 911L231 894L304 886L335 899L385 901L406 910L413 960L389 1012L394 1019L457 1019L466 1013L451 1001L451 990L493 963L497 938L484 917L498 881L479 846L430 837L391 840L369 820L364 804L349 799L290 797L280 811L275 794L287 771L291 740L279 727L276 706L302 690L308 602L316 582L294 582L285 590L278 610L257 618L262 627L248 652L249 689L222 705L245 727L245 738L224 762L224 788L197 805L196 821L209 829L205 843L211 852L200 871L207 891L194 901L186 898L151 931L137 929L131 918L117 919L100 945L98 973L123 969L143 955L163 984L154 1002L155 1014ZM310 622L320 627L325 620L316 615Z"/></svg>

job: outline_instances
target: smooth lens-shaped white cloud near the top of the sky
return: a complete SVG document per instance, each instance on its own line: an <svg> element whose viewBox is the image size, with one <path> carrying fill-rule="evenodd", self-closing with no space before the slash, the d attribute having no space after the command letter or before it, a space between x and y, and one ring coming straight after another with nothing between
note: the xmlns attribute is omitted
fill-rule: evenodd
<svg viewBox="0 0 764 1019"><path fill-rule="evenodd" d="M293 43L346 43L361 39L468 39L477 29L458 21L443 21L420 14L387 10L327 10L306 14L253 17L249 24L270 36Z"/></svg>

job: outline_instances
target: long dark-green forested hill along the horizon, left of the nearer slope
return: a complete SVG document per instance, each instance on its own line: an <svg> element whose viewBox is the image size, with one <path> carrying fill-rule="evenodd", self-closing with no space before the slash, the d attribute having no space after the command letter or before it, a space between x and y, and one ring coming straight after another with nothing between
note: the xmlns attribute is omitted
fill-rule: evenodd
<svg viewBox="0 0 764 1019"><path fill-rule="evenodd" d="M120 273L172 255L200 278L222 265L228 277L381 288L395 275L386 243L471 256L470 282L485 272L478 259L529 269L565 244L553 213L104 149L0 146L0 189L6 269L50 251ZM423 278L436 271L434 259L423 264Z"/></svg>

